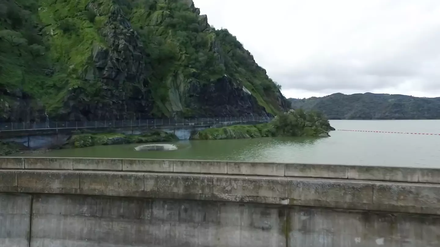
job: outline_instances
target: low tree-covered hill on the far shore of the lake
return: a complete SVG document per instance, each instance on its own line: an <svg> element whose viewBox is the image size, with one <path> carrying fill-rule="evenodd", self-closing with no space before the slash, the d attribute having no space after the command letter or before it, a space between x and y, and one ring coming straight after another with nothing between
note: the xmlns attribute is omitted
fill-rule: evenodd
<svg viewBox="0 0 440 247"><path fill-rule="evenodd" d="M289 100L293 109L317 110L329 119L440 119L440 97L336 93L319 98L289 98Z"/></svg>

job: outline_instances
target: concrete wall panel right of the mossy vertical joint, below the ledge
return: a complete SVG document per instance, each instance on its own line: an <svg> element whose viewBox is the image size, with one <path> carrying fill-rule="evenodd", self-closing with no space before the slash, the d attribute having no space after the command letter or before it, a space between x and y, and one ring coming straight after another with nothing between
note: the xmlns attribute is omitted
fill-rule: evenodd
<svg viewBox="0 0 440 247"><path fill-rule="evenodd" d="M289 247L438 247L440 217L291 207Z"/></svg>

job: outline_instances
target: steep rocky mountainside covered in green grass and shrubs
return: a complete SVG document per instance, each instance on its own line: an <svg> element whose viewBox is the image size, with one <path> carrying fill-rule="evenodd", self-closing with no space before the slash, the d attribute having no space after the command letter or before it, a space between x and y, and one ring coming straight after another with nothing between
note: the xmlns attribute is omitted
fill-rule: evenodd
<svg viewBox="0 0 440 247"><path fill-rule="evenodd" d="M0 1L0 122L275 116L279 89L192 0Z"/></svg>

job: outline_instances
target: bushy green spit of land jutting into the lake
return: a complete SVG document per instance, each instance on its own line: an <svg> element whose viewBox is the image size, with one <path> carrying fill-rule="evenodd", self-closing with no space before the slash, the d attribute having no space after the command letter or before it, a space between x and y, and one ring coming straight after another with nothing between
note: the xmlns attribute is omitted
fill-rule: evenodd
<svg viewBox="0 0 440 247"><path fill-rule="evenodd" d="M233 125L221 128L209 128L191 136L197 140L242 139L258 137L326 137L333 131L329 121L320 113L290 110L275 117L268 124Z"/></svg>

